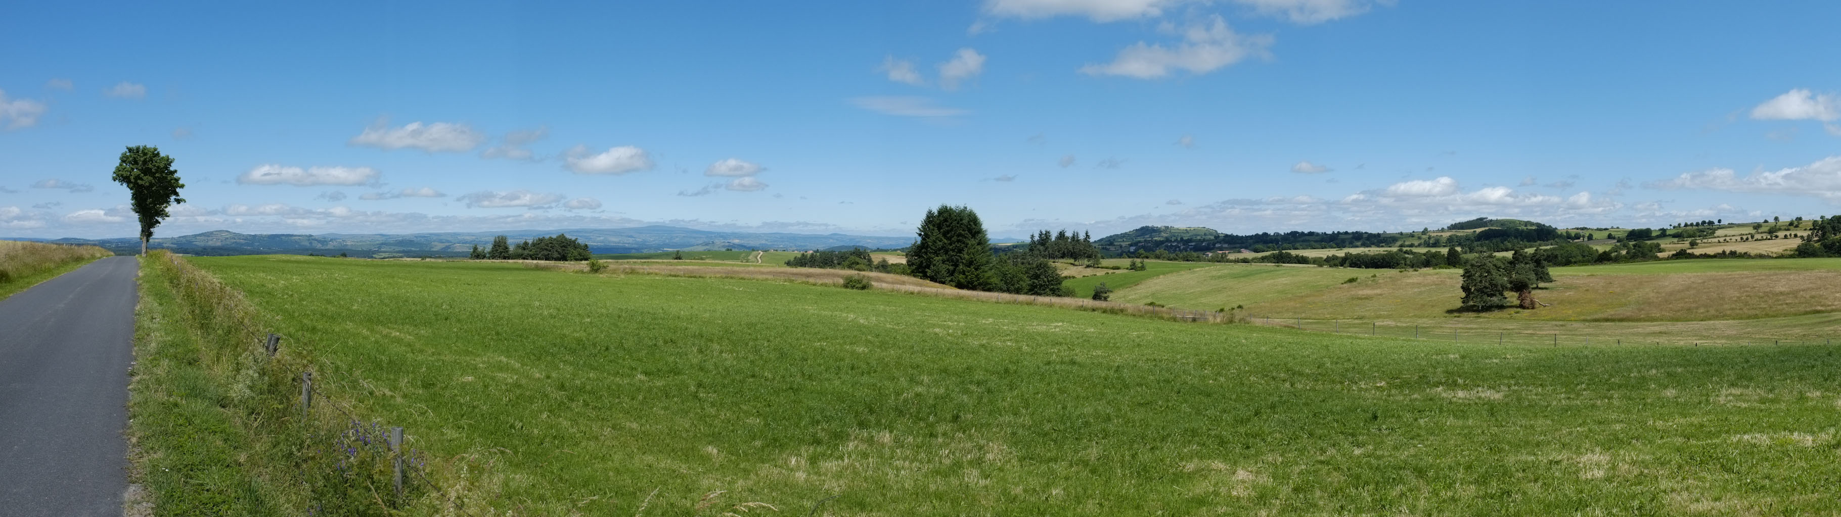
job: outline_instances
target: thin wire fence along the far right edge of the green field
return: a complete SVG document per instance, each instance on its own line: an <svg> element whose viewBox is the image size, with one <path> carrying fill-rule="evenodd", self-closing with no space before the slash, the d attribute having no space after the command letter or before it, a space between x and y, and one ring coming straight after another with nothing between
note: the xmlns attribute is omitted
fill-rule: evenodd
<svg viewBox="0 0 1841 517"><path fill-rule="evenodd" d="M1390 339L1443 340L1456 344L1500 344L1500 346L1742 346L1742 344L1821 344L1832 346L1834 339L1821 337L1727 337L1727 335L1681 335L1681 333L1640 333L1640 331L1594 331L1585 326L1605 326L1598 322L1464 322L1464 324L1427 324L1427 322L1390 322L1390 320L1316 320L1316 318L1248 318L1250 324L1268 327L1289 327L1302 331L1320 331L1337 335L1366 335Z"/></svg>

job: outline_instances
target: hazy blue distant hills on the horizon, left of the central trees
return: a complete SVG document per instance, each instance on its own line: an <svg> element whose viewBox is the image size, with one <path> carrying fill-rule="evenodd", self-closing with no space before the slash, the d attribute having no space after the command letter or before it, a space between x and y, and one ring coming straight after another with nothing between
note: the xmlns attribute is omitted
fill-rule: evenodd
<svg viewBox="0 0 1841 517"><path fill-rule="evenodd" d="M711 232L679 226L639 228L563 228L563 230L503 230L503 232L429 232L429 234L237 234L226 230L155 237L149 247L169 248L195 256L241 254L348 254L365 258L394 256L466 256L473 245L488 247L495 236L506 236L515 245L523 239L567 234L589 245L596 254L641 254L666 250L817 250L832 247L898 248L913 237L845 236L845 234L753 234ZM98 245L118 254L140 250L140 241L123 239L52 239L50 243Z"/></svg>

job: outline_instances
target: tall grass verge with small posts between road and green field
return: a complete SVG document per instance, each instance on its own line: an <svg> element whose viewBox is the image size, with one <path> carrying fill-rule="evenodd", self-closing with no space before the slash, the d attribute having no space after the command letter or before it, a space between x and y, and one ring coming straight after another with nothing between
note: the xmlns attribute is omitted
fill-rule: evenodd
<svg viewBox="0 0 1841 517"><path fill-rule="evenodd" d="M477 502L482 491L436 482L453 478L447 465L431 465L414 449L418 429L392 453L388 423L328 388L341 372L326 372L311 342L284 339L269 355L265 316L243 293L164 250L142 261L142 274L147 327L138 327L136 357L149 364L136 366L131 410L134 467L155 515L438 515ZM306 408L302 372L315 379Z"/></svg>

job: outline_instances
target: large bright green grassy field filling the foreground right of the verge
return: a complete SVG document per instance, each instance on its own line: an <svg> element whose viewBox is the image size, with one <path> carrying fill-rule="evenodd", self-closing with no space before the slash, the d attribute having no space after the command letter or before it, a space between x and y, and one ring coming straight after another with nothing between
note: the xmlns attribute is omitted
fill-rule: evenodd
<svg viewBox="0 0 1841 517"><path fill-rule="evenodd" d="M1834 348L1497 348L495 263L193 261L412 447L503 447L486 477L521 515L628 515L654 491L644 515L834 495L827 515L1841 510Z"/></svg>

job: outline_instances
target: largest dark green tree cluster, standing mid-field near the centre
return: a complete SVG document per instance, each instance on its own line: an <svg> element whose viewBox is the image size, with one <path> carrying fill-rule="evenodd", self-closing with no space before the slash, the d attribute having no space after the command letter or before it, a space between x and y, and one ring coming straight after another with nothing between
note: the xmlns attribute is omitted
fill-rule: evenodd
<svg viewBox="0 0 1841 517"><path fill-rule="evenodd" d="M937 283L1038 296L1070 296L1060 270L1031 248L996 256L978 212L941 204L920 219L915 245L908 250L913 276Z"/></svg>

